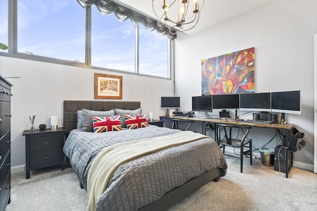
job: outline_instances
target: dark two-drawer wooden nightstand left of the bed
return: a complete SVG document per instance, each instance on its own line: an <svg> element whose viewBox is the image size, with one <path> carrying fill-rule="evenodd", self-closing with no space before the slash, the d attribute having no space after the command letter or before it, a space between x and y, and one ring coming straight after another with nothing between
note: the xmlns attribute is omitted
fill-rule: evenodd
<svg viewBox="0 0 317 211"><path fill-rule="evenodd" d="M26 178L30 178L30 170L60 165L65 169L64 161L64 128L24 130Z"/></svg>

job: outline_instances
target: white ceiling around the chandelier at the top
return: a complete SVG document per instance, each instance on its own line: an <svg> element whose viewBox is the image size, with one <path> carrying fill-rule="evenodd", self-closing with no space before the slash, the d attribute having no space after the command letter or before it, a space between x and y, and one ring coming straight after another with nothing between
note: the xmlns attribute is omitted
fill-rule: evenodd
<svg viewBox="0 0 317 211"><path fill-rule="evenodd" d="M133 7L141 13L156 17L152 10L152 0L115 0L118 3ZM200 21L195 28L186 31L192 35L248 10L254 9L271 0L205 0Z"/></svg>

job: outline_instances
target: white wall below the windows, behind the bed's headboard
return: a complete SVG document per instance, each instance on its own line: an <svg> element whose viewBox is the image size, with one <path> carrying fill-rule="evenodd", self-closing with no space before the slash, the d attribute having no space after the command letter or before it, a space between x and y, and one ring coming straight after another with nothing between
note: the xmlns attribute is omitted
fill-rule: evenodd
<svg viewBox="0 0 317 211"><path fill-rule="evenodd" d="M62 127L63 100L95 100L94 73L123 76L123 101L141 101L143 113L154 112L154 119L165 115L160 109L161 96L174 96L174 83L149 77L91 70L51 63L0 56L0 74L13 84L11 98L12 168L25 165L25 137L30 129L29 116L36 115L35 125L50 126L50 117L58 116Z"/></svg>

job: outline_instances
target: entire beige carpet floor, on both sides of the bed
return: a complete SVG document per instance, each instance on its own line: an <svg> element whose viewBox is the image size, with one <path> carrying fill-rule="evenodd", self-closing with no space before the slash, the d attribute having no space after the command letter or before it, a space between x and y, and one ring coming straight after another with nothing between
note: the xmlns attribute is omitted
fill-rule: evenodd
<svg viewBox="0 0 317 211"><path fill-rule="evenodd" d="M292 168L289 178L273 167L226 157L227 175L210 182L169 211L316 211L317 174ZM85 211L87 194L72 169L44 169L11 176L7 211Z"/></svg>

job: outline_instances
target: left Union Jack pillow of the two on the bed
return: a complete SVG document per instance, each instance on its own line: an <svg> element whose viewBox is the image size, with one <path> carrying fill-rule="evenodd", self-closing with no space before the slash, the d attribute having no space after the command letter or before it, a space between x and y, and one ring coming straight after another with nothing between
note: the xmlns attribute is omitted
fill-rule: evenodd
<svg viewBox="0 0 317 211"><path fill-rule="evenodd" d="M93 117L94 132L122 130L120 115L111 117Z"/></svg>

